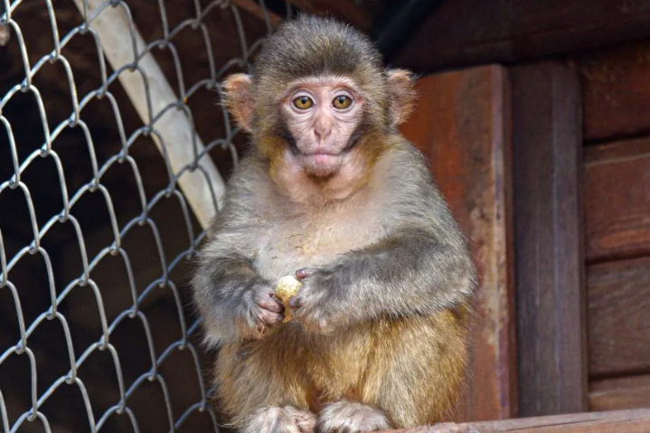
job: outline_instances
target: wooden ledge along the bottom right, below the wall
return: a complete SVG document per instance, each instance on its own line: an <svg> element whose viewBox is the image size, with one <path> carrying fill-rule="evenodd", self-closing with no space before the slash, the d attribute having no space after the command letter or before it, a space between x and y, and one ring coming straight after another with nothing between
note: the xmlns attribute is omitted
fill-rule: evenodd
<svg viewBox="0 0 650 433"><path fill-rule="evenodd" d="M650 433L650 409L504 419L393 430L393 433L496 433L504 431L511 433Z"/></svg>

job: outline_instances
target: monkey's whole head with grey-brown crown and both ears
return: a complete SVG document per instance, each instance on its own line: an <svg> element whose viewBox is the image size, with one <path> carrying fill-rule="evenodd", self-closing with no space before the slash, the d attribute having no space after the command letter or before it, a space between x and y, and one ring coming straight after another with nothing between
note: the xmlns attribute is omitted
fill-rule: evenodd
<svg viewBox="0 0 650 433"><path fill-rule="evenodd" d="M414 92L363 33L305 15L264 42L253 75L223 82L223 99L271 179L296 202L326 202L372 177Z"/></svg>

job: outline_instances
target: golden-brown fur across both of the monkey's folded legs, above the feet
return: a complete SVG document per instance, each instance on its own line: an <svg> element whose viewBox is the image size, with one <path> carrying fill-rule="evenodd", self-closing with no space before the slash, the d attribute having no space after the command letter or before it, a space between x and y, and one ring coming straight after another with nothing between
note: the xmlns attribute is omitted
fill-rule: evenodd
<svg viewBox="0 0 650 433"><path fill-rule="evenodd" d="M294 406L318 413L326 401L382 408L395 428L447 415L466 363L464 314L378 320L335 335L288 327L263 340L231 344L217 362L227 413Z"/></svg>

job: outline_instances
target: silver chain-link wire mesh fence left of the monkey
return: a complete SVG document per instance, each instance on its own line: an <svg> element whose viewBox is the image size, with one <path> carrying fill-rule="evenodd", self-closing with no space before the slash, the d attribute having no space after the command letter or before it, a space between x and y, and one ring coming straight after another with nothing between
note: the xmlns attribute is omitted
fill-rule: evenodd
<svg viewBox="0 0 650 433"><path fill-rule="evenodd" d="M0 427L218 431L186 293L204 233L179 180L202 158L236 165L216 89L249 66L269 14L261 0L258 16L225 0L94 14L87 1L0 0ZM115 69L91 28L111 8L146 40ZM147 53L176 96L161 112L205 140L180 169L155 147L160 113L147 99L140 121L118 80Z"/></svg>

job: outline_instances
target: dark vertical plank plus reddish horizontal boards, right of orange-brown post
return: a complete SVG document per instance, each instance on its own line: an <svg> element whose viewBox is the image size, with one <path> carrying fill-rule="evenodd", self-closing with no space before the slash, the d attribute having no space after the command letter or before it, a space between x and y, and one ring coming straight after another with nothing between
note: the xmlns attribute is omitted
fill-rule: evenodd
<svg viewBox="0 0 650 433"><path fill-rule="evenodd" d="M508 71L519 414L650 408L650 41Z"/></svg>

